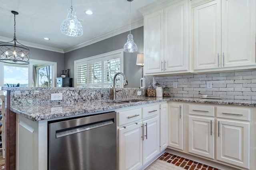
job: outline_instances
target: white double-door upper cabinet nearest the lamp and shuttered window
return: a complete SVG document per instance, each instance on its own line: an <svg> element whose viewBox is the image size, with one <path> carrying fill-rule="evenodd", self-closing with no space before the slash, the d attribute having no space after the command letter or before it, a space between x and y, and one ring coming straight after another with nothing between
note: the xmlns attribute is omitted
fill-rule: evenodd
<svg viewBox="0 0 256 170"><path fill-rule="evenodd" d="M145 75L188 72L188 1L144 14Z"/></svg>

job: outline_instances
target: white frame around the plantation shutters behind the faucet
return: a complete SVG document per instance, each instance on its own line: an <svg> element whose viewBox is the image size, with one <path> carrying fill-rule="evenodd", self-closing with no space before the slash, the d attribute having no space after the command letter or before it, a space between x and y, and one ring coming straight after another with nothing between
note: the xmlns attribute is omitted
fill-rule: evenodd
<svg viewBox="0 0 256 170"><path fill-rule="evenodd" d="M124 71L124 51L123 49L118 49L118 50L115 50L115 51L110 51L110 52L107 52L107 53L102 53L102 54L99 54L99 55L94 55L94 56L91 56L91 57L87 57L87 58L83 58L83 59L78 59L78 60L75 60L74 61L74 87L77 87L77 68L78 66L80 65L86 65L86 70L87 70L87 80L86 80L86 84L81 84L83 85L83 87L85 88L97 88L97 87L90 87L91 85L93 85L92 83L90 83L89 81L89 75L90 73L88 72L89 71L89 64L90 63L94 63L94 62L102 62L102 74L101 74L101 79L102 79L102 82L100 83L101 84L101 87L100 88L105 88L104 86L105 85L108 85L107 83L104 83L104 61L106 60L110 60L110 59L117 59L117 58L120 58L120 72L123 72ZM93 62L91 62L93 61ZM101 70L102 70L101 69ZM123 87L123 77L120 76L120 87Z"/></svg>

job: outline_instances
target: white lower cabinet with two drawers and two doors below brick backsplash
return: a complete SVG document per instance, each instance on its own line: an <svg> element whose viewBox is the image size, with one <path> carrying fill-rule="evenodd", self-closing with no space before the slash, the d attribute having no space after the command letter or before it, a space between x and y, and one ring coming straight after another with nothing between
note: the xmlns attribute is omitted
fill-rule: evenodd
<svg viewBox="0 0 256 170"><path fill-rule="evenodd" d="M236 168L253 169L252 113L248 107L188 105L188 153Z"/></svg>

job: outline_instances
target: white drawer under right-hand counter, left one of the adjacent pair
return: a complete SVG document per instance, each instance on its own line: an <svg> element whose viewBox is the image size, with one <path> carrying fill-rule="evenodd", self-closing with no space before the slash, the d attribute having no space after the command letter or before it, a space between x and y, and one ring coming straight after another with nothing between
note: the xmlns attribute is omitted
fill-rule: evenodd
<svg viewBox="0 0 256 170"><path fill-rule="evenodd" d="M188 105L188 114L214 117L214 106Z"/></svg>

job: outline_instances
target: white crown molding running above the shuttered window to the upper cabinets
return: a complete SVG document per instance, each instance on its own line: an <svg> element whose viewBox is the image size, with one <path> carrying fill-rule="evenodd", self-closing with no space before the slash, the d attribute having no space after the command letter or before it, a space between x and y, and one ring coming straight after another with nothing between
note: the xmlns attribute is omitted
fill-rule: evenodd
<svg viewBox="0 0 256 170"><path fill-rule="evenodd" d="M142 27L143 26L143 19L142 20L139 20L137 22L133 22L131 23L131 30L133 29L136 29L136 28L139 28L139 27ZM113 36L116 36L118 34L122 34L124 32L127 32L130 30L130 25L126 25L126 26L123 26L121 28L118 28L116 30L113 30L111 32L108 32L106 34L102 34L101 36L98 36L96 38L93 38L91 40L88 40L86 42L83 42L83 43L80 43L78 45L74 45L72 47L69 47L69 48L66 48L64 49L64 53L67 53L67 52L70 52L70 51L73 51L75 49L79 49L79 48L82 48L82 47L85 47L87 45L90 45L90 44L93 44L93 43L96 43L96 42L100 42L102 40L105 40L107 38L110 38L110 37L113 37Z"/></svg>

